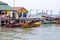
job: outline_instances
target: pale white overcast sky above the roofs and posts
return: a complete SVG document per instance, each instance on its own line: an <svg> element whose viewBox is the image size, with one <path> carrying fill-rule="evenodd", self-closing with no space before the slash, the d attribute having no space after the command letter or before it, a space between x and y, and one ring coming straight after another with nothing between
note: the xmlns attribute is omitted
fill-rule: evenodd
<svg viewBox="0 0 60 40"><path fill-rule="evenodd" d="M25 7L27 10L39 9L39 10L60 10L60 0L0 0L8 3L11 7Z"/></svg>

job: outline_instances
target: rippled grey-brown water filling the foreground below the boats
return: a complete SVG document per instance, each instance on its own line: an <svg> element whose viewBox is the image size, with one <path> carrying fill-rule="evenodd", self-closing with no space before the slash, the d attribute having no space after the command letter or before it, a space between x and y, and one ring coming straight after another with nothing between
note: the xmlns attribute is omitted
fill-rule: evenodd
<svg viewBox="0 0 60 40"><path fill-rule="evenodd" d="M0 27L0 40L60 40L60 25L43 24L35 28Z"/></svg>

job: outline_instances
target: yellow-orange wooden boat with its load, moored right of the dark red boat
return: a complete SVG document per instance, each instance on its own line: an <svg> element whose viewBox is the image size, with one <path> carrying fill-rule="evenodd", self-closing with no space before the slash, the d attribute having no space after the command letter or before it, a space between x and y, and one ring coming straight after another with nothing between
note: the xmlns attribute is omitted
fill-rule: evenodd
<svg viewBox="0 0 60 40"><path fill-rule="evenodd" d="M20 22L20 24L24 28L37 27L37 26L40 26L41 23L42 21L40 20L36 20L36 21L26 20L25 22Z"/></svg>

